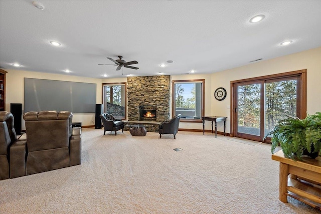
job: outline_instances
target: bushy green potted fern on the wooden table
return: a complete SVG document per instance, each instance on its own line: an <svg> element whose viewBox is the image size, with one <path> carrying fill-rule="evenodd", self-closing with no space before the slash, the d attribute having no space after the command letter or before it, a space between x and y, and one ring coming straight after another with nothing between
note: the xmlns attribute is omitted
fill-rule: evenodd
<svg viewBox="0 0 321 214"><path fill-rule="evenodd" d="M273 134L272 153L280 145L287 158L297 157L301 160L303 155L316 158L321 155L321 112L308 115L304 119L288 116L278 121L265 138L270 134Z"/></svg>

